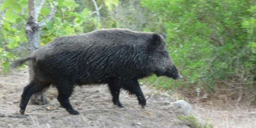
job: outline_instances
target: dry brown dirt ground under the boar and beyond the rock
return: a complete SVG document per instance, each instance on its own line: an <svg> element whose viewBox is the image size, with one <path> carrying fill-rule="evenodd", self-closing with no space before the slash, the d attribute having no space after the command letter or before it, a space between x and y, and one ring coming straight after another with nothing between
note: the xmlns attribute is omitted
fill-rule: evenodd
<svg viewBox="0 0 256 128"><path fill-rule="evenodd" d="M28 69L0 73L0 128L174 128L176 117L168 106L173 102L168 92L142 86L147 100L145 109L136 97L120 94L125 106L118 108L111 101L106 85L76 87L70 98L80 115L70 115L57 101L55 88L48 90L47 105L31 105L25 115L19 113L23 87L28 84ZM255 128L256 109L218 108L216 105L192 105L202 120L209 119L214 128ZM177 127L178 128L178 127Z"/></svg>

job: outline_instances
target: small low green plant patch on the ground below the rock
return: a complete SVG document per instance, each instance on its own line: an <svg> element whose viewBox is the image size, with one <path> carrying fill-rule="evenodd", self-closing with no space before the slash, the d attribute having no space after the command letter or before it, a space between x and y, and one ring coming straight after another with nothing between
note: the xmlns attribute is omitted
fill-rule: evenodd
<svg viewBox="0 0 256 128"><path fill-rule="evenodd" d="M198 121L198 119L193 115L189 114L187 116L178 116L179 120L185 122L187 125L189 125L191 128L213 128L212 124L202 124Z"/></svg>

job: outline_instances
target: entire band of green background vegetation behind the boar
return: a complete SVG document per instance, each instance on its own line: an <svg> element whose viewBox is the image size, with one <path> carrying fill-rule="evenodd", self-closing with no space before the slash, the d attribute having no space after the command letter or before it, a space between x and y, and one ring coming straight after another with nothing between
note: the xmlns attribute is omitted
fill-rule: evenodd
<svg viewBox="0 0 256 128"><path fill-rule="evenodd" d="M166 33L170 56L185 77L152 76L142 83L198 97L228 94L253 103L256 94L255 0L46 0L40 45L52 39L102 28ZM27 0L0 0L0 61L29 54L25 33ZM57 12L45 21L51 8ZM99 12L99 15L98 13Z"/></svg>

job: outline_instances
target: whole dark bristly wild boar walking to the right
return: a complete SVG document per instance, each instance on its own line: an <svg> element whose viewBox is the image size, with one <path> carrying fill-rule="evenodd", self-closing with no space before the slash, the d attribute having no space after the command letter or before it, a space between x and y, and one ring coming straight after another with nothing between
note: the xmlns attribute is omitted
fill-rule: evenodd
<svg viewBox="0 0 256 128"><path fill-rule="evenodd" d="M21 114L24 114L30 96L51 84L59 91L60 104L70 114L79 114L69 103L74 85L108 84L113 103L119 107L123 107L119 92L124 89L136 95L144 108L146 99L138 79L152 74L173 79L179 77L162 36L128 29L105 29L59 37L14 65L28 60L32 60L34 75L24 88Z"/></svg>

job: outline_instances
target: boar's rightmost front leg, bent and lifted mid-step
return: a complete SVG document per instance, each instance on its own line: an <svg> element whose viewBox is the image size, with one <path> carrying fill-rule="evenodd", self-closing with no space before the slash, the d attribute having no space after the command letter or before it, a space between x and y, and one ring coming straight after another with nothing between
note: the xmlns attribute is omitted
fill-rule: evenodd
<svg viewBox="0 0 256 128"><path fill-rule="evenodd" d="M137 79L128 81L126 84L123 85L123 88L125 90L128 90L132 95L137 96L139 105L141 105L142 108L146 106L146 99L143 95L143 92L140 88L140 84Z"/></svg>

